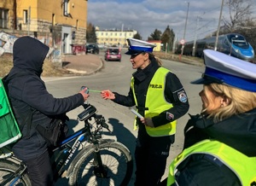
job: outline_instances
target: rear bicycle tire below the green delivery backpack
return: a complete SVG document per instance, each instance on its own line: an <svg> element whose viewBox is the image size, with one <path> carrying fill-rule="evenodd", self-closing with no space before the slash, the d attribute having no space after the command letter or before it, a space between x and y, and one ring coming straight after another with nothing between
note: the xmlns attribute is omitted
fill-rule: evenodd
<svg viewBox="0 0 256 186"><path fill-rule="evenodd" d="M1 163L0 163L0 185L3 186L3 180L10 177L11 174L15 173L15 171L18 168L19 168L19 165L15 164L15 163L1 161ZM12 179L11 181L13 181L13 180L14 179ZM5 183L4 185L9 185L9 183ZM17 180L17 182L14 185L31 186L32 184L31 184L31 181L30 181L27 173L25 173L22 177L19 178L19 180Z"/></svg>

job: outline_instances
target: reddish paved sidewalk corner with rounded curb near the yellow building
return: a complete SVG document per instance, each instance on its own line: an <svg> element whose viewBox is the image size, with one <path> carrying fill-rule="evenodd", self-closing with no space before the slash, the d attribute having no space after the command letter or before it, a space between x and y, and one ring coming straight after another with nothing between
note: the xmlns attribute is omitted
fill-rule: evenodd
<svg viewBox="0 0 256 186"><path fill-rule="evenodd" d="M72 73L90 75L103 67L103 61L98 55L65 55L62 57L62 67Z"/></svg>

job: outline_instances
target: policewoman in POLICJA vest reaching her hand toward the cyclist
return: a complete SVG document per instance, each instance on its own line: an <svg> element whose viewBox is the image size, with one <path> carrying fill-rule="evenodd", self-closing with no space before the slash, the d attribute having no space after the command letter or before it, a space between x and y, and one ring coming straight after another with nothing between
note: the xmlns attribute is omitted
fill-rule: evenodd
<svg viewBox="0 0 256 186"><path fill-rule="evenodd" d="M183 85L170 70L161 67L160 59L152 54L154 44L128 38L130 61L133 69L128 96L102 90L102 98L126 107L136 106L143 117L136 117L138 128L135 150L135 185L154 186L166 169L166 159L174 142L176 120L189 110Z"/></svg>

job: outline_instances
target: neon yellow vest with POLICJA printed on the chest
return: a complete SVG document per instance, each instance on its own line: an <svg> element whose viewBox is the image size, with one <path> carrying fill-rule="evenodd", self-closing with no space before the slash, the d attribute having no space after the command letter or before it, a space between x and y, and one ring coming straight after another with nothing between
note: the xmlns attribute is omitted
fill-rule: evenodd
<svg viewBox="0 0 256 186"><path fill-rule="evenodd" d="M151 79L148 86L146 96L145 108L148 108L148 110L144 111L144 116L146 118L152 118L173 107L172 103L166 102L165 98L166 75L169 72L170 70L164 67L159 67L154 73L154 77ZM137 97L135 96L134 90L134 78L131 78L131 90L137 105ZM170 136L176 132L176 123L177 121L175 120L167 123L166 125L161 125L154 128L146 126L146 131L150 137ZM134 121L134 129L137 129L137 117Z"/></svg>

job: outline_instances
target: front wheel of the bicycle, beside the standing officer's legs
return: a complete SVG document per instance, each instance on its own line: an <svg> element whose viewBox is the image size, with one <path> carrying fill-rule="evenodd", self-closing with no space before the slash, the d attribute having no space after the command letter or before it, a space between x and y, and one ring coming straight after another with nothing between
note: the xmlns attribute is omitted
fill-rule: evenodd
<svg viewBox="0 0 256 186"><path fill-rule="evenodd" d="M69 185L128 185L133 171L133 160L128 148L120 142L100 144L102 163L108 170L108 177L98 177L94 171L94 146L79 152L81 157L73 163ZM79 155L78 154L78 155Z"/></svg>

